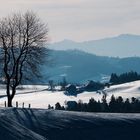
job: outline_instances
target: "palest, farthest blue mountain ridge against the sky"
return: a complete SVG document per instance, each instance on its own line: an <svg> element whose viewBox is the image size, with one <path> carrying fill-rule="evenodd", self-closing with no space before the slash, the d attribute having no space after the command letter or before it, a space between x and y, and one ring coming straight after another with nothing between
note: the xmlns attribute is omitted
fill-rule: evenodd
<svg viewBox="0 0 140 140"><path fill-rule="evenodd" d="M74 42L63 40L50 44L50 49L78 49L99 56L134 57L140 56L140 35L122 34L112 38Z"/></svg>

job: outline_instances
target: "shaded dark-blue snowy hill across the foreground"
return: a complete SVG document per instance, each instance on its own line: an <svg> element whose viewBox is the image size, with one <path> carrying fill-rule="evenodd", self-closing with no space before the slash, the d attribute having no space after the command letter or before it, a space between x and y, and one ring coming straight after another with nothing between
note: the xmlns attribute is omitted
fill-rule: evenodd
<svg viewBox="0 0 140 140"><path fill-rule="evenodd" d="M1 140L139 140L140 114L0 109Z"/></svg>

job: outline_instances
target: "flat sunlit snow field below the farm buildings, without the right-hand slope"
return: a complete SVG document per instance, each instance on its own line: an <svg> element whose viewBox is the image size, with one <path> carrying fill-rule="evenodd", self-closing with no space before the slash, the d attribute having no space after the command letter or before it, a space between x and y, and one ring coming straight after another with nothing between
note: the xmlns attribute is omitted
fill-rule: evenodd
<svg viewBox="0 0 140 140"><path fill-rule="evenodd" d="M65 105L66 101L79 101L88 102L91 97L95 99L101 98L102 95L96 93L82 93L77 97L75 96L66 96L63 92L51 92L45 90L45 86L28 86L23 90L17 90L17 95L14 97L13 105L15 106L16 101L19 103L19 107L22 106L24 102L25 107L28 107L31 104L32 108L48 108L48 104L54 106L57 102L61 105ZM7 100L6 97L0 98L0 106L4 107L4 102Z"/></svg>

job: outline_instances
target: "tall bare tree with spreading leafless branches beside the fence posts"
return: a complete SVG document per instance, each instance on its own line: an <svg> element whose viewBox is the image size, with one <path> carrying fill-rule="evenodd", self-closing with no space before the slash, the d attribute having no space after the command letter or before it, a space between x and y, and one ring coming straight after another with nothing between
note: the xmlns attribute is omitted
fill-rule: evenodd
<svg viewBox="0 0 140 140"><path fill-rule="evenodd" d="M39 76L47 56L47 26L33 12L13 14L0 20L0 60L6 84L8 107L24 80Z"/></svg>

